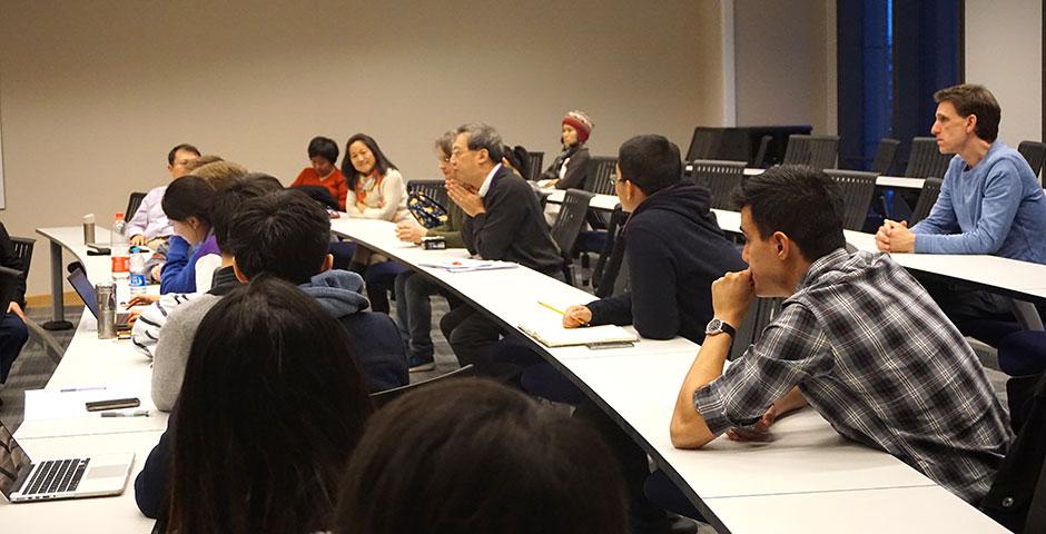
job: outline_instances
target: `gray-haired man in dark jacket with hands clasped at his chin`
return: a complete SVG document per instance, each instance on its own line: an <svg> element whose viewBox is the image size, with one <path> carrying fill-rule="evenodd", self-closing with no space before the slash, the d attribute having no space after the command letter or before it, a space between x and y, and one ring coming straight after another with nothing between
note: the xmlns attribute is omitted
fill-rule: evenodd
<svg viewBox="0 0 1046 534"><path fill-rule="evenodd" d="M447 195L465 212L462 238L483 259L515 261L560 278L563 258L552 240L537 196L526 181L501 164L504 144L492 127L464 125L451 148L454 178ZM458 306L440 322L462 365L484 373L501 328L470 306Z"/></svg>

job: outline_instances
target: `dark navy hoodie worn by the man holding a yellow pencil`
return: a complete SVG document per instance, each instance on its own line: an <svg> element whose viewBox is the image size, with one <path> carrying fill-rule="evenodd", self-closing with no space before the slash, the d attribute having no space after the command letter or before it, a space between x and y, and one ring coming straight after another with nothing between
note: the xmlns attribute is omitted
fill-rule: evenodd
<svg viewBox="0 0 1046 534"><path fill-rule="evenodd" d="M708 189L690 184L662 189L635 209L622 231L631 291L590 303L592 324L632 324L650 339L704 340L712 283L746 268L709 211Z"/></svg>

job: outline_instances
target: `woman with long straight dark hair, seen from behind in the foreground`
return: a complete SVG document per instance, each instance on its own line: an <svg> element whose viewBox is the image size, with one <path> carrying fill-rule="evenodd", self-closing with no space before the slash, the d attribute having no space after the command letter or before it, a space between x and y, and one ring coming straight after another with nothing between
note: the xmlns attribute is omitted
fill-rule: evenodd
<svg viewBox="0 0 1046 534"><path fill-rule="evenodd" d="M230 293L196 332L139 507L162 514L169 495L171 532L329 528L373 409L356 360L345 329L289 283L262 276Z"/></svg>

